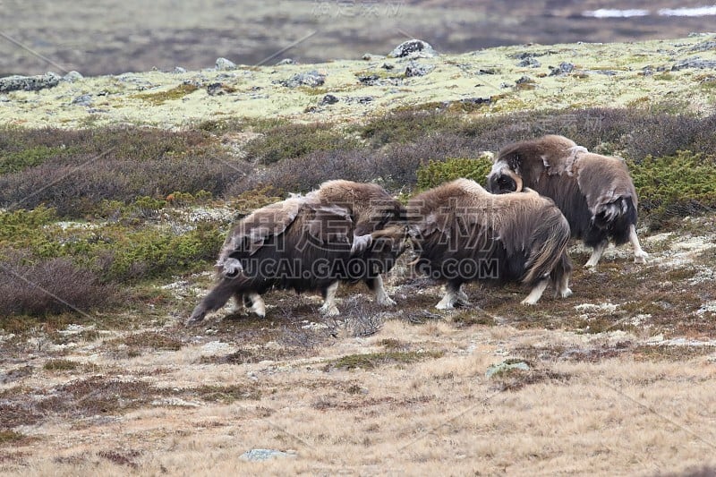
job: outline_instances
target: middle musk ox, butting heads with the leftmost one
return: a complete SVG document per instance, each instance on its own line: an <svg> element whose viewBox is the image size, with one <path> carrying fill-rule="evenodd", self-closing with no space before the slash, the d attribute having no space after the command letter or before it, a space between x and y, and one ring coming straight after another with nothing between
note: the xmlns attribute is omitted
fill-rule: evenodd
<svg viewBox="0 0 716 477"><path fill-rule="evenodd" d="M531 285L524 304L550 281L555 295L572 294L567 219L537 192L495 195L457 179L415 196L407 213L419 271L447 282L440 310L468 304L460 288L474 280Z"/></svg>

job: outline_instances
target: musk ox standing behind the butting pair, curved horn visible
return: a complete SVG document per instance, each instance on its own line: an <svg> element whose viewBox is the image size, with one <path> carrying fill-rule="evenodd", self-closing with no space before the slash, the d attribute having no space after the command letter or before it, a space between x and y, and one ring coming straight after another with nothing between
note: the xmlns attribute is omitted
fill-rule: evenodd
<svg viewBox="0 0 716 477"><path fill-rule="evenodd" d="M648 254L636 236L636 191L623 160L548 135L500 149L487 179L493 193L529 187L554 200L572 236L594 249L585 268L596 268L609 240L630 242L635 263L646 262Z"/></svg>

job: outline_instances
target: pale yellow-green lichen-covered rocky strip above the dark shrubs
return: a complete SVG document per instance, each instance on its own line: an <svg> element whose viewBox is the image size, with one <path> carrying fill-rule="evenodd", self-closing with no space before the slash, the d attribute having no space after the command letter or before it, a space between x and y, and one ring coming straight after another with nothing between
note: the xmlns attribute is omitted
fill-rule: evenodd
<svg viewBox="0 0 716 477"><path fill-rule="evenodd" d="M714 108L714 91L716 37L694 35L497 47L463 55L365 55L324 64L256 67L219 59L216 67L194 72L5 78L0 80L0 121L28 127L175 128L226 117L284 117L340 124L399 107L458 101L480 106L474 109L485 115L669 101L706 114Z"/></svg>

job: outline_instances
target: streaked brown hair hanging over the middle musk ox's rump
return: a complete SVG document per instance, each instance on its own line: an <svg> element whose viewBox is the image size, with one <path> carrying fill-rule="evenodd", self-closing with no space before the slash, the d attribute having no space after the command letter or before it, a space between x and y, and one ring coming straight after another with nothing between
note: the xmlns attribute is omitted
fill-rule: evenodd
<svg viewBox="0 0 716 477"><path fill-rule="evenodd" d="M536 285L550 277L552 270L561 269L560 266L565 265L564 256L567 254L570 234L567 219L558 209L551 209L550 215L543 217L532 234L532 250L524 265L526 272L521 280L524 284Z"/></svg>

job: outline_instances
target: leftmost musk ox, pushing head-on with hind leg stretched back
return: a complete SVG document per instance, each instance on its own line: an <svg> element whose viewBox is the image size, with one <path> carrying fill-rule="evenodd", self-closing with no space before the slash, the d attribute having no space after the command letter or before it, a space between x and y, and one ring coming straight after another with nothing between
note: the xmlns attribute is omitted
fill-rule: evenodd
<svg viewBox="0 0 716 477"><path fill-rule="evenodd" d="M260 316L272 288L320 291L320 311L337 315L338 282L362 281L376 302L393 305L381 273L405 250L405 209L379 185L328 181L303 197L282 200L244 217L226 237L218 283L187 324L200 322L233 295Z"/></svg>

